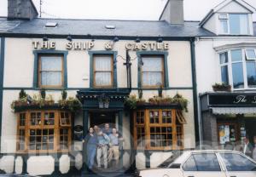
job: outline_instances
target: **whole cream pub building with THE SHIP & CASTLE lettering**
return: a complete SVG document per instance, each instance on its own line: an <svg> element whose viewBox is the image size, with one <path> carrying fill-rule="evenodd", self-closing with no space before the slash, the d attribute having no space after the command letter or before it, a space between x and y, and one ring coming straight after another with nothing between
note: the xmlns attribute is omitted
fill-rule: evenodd
<svg viewBox="0 0 256 177"><path fill-rule="evenodd" d="M168 1L155 21L41 19L31 0L8 3L0 18L3 172L133 173L195 148L194 39L212 33L183 20L182 0ZM82 139L105 123L124 139L119 168L95 162L90 172Z"/></svg>

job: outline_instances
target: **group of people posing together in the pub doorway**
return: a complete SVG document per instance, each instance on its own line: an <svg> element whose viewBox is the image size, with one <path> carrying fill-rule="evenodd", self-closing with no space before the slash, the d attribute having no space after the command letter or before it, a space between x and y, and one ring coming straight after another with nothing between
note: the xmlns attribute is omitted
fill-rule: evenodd
<svg viewBox="0 0 256 177"><path fill-rule="evenodd" d="M89 128L88 134L84 138L87 154L87 165L91 170L95 164L97 167L108 168L108 164L112 160L115 165L119 165L119 145L124 139L118 133L117 128L110 128L108 123L105 123L104 128L99 128L95 125Z"/></svg>

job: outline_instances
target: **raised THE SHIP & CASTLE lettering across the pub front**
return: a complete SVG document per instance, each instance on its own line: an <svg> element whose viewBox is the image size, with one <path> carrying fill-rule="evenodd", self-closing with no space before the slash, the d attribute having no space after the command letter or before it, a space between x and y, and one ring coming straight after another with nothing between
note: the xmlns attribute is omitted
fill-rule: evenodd
<svg viewBox="0 0 256 177"><path fill-rule="evenodd" d="M55 49L57 43L55 41L33 41L32 47L34 49ZM85 42L67 42L64 44L67 50L90 50L95 46L95 42L93 41L85 41ZM103 48L106 50L112 50L115 43L113 41L107 42L103 44ZM156 43L156 42L148 42L148 43L125 43L126 50L168 50L169 43Z"/></svg>

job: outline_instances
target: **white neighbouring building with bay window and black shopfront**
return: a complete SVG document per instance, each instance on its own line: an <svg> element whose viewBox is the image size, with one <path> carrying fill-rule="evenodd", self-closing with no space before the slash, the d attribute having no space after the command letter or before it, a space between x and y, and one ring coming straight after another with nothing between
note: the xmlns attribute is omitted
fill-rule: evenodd
<svg viewBox="0 0 256 177"><path fill-rule="evenodd" d="M254 12L245 1L226 0L200 23L214 34L195 42L201 140L215 148L239 149L256 135Z"/></svg>

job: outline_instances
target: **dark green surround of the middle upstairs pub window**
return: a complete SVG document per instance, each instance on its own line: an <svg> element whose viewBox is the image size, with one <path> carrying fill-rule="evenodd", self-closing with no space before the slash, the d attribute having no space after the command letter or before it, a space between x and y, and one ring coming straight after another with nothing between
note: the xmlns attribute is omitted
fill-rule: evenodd
<svg viewBox="0 0 256 177"><path fill-rule="evenodd" d="M94 54L113 54L113 88L117 88L117 51L108 51L108 50L94 50L88 51L90 55L90 88L93 88L93 55Z"/></svg>

